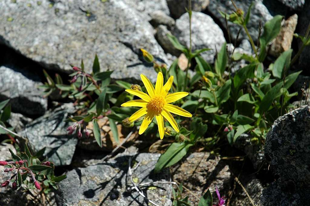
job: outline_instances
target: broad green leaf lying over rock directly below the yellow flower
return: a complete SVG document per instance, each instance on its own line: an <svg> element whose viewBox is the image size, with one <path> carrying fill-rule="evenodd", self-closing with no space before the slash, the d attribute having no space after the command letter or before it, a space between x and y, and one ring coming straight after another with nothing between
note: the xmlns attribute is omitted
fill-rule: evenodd
<svg viewBox="0 0 310 206"><path fill-rule="evenodd" d="M154 172L158 173L161 169L177 163L183 156L186 155L188 148L192 145L193 144L188 144L186 142L173 142L168 147L167 151L159 157L155 165Z"/></svg>

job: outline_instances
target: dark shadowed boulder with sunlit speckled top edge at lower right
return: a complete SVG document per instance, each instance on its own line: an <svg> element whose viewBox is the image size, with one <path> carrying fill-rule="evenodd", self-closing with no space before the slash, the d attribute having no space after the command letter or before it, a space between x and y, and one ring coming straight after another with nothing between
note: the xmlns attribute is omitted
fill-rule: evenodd
<svg viewBox="0 0 310 206"><path fill-rule="evenodd" d="M264 206L307 205L310 191L310 106L279 117L270 128L265 157L278 178L263 190Z"/></svg>

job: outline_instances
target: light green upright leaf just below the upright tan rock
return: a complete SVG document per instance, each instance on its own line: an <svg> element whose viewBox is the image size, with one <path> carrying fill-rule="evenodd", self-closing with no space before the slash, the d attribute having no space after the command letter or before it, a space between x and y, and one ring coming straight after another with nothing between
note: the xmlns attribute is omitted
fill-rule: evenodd
<svg viewBox="0 0 310 206"><path fill-rule="evenodd" d="M292 51L293 51L292 49L289 49L283 52L274 62L272 68L272 75L274 77L281 79L284 75L283 74L284 68L286 68L286 71L289 69Z"/></svg>

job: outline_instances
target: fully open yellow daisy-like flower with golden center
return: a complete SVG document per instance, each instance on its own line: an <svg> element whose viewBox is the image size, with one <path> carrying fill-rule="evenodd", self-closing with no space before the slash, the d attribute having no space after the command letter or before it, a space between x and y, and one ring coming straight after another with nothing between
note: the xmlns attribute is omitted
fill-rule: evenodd
<svg viewBox="0 0 310 206"><path fill-rule="evenodd" d="M137 100L128 101L121 105L122 107L142 107L129 117L129 121L135 121L139 119L141 116L145 115L139 129L139 134L143 134L144 131L148 128L148 125L152 122L153 118L155 117L158 125L159 136L162 139L164 138L165 133L164 128L164 117L165 117L172 126L172 128L175 129L175 131L179 132L178 124L176 123L175 119L170 114L170 112L173 114L186 117L192 117L192 114L182 109L181 107L169 103L175 102L183 97L186 97L188 95L188 92L176 92L173 94L168 94L168 91L170 90L173 82L173 76L171 76L166 82L166 84L163 85L164 78L162 76L162 72L159 72L157 75L155 89L147 77L145 77L143 74L141 74L140 77L148 94L145 94L144 92L137 90L125 90L126 92L134 94L141 98Z"/></svg>

